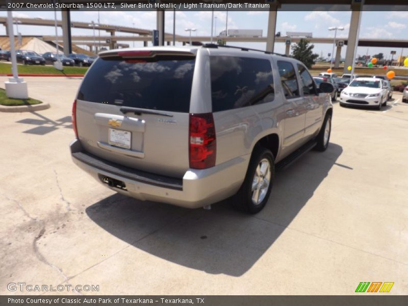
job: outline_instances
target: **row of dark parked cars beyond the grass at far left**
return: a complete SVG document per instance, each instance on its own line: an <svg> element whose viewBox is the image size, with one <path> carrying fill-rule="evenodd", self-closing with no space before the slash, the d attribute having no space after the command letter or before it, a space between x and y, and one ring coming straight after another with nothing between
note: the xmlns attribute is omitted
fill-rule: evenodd
<svg viewBox="0 0 408 306"><path fill-rule="evenodd" d="M62 53L46 52L42 56L31 50L16 50L17 63L23 65L53 65L57 59L60 59L64 66L89 67L96 57L89 57L85 54L69 54L65 56ZM0 60L11 62L9 50L0 50Z"/></svg>

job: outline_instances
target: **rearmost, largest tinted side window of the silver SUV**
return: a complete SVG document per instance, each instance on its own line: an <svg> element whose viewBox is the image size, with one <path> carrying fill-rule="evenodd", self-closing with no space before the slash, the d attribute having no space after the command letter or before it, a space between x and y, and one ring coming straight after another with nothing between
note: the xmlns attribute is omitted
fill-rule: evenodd
<svg viewBox="0 0 408 306"><path fill-rule="evenodd" d="M274 98L269 60L210 57L213 112L270 102Z"/></svg>

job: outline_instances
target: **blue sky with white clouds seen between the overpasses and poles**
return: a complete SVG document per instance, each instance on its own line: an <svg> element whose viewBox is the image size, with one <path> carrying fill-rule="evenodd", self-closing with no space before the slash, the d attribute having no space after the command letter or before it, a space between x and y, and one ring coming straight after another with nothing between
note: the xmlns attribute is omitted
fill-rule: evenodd
<svg viewBox="0 0 408 306"><path fill-rule="evenodd" d="M0 16L6 16L6 12L0 12ZM30 17L54 19L54 12L30 11L13 12L14 17ZM217 17L214 22L215 33L225 30L226 12L215 11ZM341 26L344 31L338 31L337 37L347 38L349 30L351 12L350 11L279 11L276 20L276 32L281 32L284 36L286 32L312 32L313 37L334 37L334 31L328 31L328 27ZM57 12L57 18L61 19L61 13ZM89 21L97 22L97 11L71 12L71 21ZM156 12L138 12L138 11L101 11L99 13L100 23L122 25L141 29L156 28ZM228 29L262 29L263 36L267 35L268 13L257 11L229 12ZM173 12L166 12L165 31L172 33ZM197 32L194 35L210 36L211 33L211 11L198 12L177 12L176 13L176 34L186 35L186 28L195 28ZM15 30L15 28L14 28ZM18 30L22 35L55 35L53 27L35 27L32 25L19 25ZM58 30L62 35L62 30ZM5 35L5 27L0 25L0 35ZM92 36L92 29L72 29L71 34ZM108 35L101 31L100 35ZM117 35L129 35L117 33ZM380 12L364 11L362 13L360 38L380 38L380 39L408 39L408 12ZM90 39L91 40L91 39ZM129 43L131 46L132 42ZM230 45L239 45L252 48L265 49L265 43L228 43ZM142 42L135 42L135 46L142 46ZM323 54L327 57L332 52L333 44L315 44L314 53ZM395 48L385 47L359 47L358 55L374 55L384 53L386 58L390 58L390 51ZM396 49L397 55L400 55L401 48ZM285 53L284 43L275 43L274 52ZM341 57L344 58L346 47L342 48ZM408 49L405 49L404 55L408 55ZM394 57L395 58L395 57Z"/></svg>

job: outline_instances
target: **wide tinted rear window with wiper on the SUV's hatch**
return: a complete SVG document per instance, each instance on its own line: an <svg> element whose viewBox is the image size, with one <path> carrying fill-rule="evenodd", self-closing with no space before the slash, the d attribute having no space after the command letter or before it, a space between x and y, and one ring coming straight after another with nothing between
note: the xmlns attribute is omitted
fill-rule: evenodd
<svg viewBox="0 0 408 306"><path fill-rule="evenodd" d="M78 99L171 112L190 110L195 59L149 62L97 59Z"/></svg>

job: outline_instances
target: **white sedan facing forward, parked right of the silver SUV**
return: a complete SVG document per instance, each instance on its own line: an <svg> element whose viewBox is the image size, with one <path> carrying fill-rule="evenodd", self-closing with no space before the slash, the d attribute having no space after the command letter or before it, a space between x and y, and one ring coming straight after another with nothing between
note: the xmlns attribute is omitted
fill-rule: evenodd
<svg viewBox="0 0 408 306"><path fill-rule="evenodd" d="M340 106L368 106L380 110L387 105L387 100L387 85L376 78L354 79L340 94Z"/></svg>

